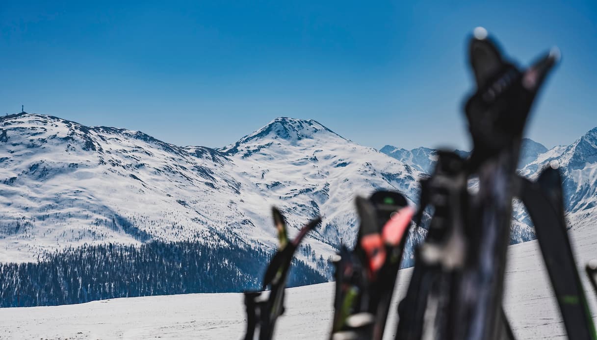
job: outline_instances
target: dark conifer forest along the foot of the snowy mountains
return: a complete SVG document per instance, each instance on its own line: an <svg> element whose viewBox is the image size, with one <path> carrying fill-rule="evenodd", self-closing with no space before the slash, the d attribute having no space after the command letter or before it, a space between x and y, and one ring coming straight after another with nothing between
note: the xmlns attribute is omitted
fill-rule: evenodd
<svg viewBox="0 0 597 340"><path fill-rule="evenodd" d="M38 262L0 263L0 307L31 307L128 296L242 292L261 288L272 253L250 246L153 241L84 245ZM327 279L293 259L288 286Z"/></svg>

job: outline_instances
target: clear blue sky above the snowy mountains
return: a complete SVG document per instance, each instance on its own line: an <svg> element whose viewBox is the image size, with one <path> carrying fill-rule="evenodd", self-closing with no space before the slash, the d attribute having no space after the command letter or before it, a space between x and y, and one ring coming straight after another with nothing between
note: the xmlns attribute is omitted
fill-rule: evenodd
<svg viewBox="0 0 597 340"><path fill-rule="evenodd" d="M2 1L0 113L55 115L219 147L278 116L380 148L469 147L466 37L562 63L527 136L597 126L597 2Z"/></svg>

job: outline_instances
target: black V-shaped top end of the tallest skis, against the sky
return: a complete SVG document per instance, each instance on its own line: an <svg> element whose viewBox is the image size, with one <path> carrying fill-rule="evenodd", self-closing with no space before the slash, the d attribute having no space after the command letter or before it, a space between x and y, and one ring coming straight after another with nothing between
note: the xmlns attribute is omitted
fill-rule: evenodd
<svg viewBox="0 0 597 340"><path fill-rule="evenodd" d="M551 52L528 69L519 70L500 53L487 31L470 39L469 63L476 92L467 100L465 112L474 145L470 156L472 168L506 150L518 159L517 144L533 101L558 60L559 53ZM513 170L515 165L508 167Z"/></svg>

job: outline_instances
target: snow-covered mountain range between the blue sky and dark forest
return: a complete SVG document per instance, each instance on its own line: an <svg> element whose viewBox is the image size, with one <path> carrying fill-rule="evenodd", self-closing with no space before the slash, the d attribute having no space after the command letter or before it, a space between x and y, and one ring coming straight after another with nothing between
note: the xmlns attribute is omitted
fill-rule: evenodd
<svg viewBox="0 0 597 340"><path fill-rule="evenodd" d="M393 146L377 151L315 120L276 118L236 143L210 149L53 116L5 116L0 262L34 261L67 247L152 241L272 252L277 241L270 206L276 205L291 234L322 215L298 259L329 278L325 259L340 242L355 241L355 194L383 188L416 202L417 180L432 170L435 152ZM525 140L519 171L533 178L553 160L564 174L571 227L595 222L597 129L549 150ZM517 207L513 243L534 238ZM411 233L407 260L423 233Z"/></svg>

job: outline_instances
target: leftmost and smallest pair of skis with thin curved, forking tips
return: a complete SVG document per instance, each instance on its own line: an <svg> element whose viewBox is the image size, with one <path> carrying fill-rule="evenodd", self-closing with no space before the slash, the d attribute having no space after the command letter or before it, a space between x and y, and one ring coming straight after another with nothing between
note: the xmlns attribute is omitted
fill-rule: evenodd
<svg viewBox="0 0 597 340"><path fill-rule="evenodd" d="M288 279L288 270L294 252L304 237L320 222L317 217L298 231L297 236L288 241L287 225L281 212L272 208L273 220L278 231L279 247L267 266L263 276L260 292L245 292L245 307L247 310L247 331L245 340L270 340L273 336L276 320L284 313L284 289ZM263 298L261 293L270 287L269 296Z"/></svg>

